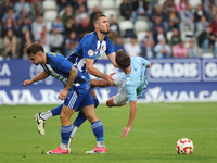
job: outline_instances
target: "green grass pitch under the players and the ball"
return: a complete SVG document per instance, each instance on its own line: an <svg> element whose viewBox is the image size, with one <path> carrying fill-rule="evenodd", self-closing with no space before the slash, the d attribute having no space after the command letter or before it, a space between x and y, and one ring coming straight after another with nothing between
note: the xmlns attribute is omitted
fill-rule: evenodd
<svg viewBox="0 0 217 163"><path fill-rule="evenodd" d="M47 155L61 142L59 116L47 121L46 136L37 133L34 115L55 105L0 105L1 163L216 163L217 102L140 103L132 128L120 138L127 125L129 104L107 108L97 114L104 126L106 154L86 154L95 147L89 122L76 133L72 154ZM72 122L77 113L72 116ZM176 141L190 138L194 151L176 153Z"/></svg>

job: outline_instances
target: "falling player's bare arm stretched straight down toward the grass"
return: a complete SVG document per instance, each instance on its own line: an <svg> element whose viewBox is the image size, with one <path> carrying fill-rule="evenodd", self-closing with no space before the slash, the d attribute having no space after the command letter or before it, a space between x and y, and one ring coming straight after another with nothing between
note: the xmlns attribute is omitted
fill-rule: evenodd
<svg viewBox="0 0 217 163"><path fill-rule="evenodd" d="M127 134L130 131L130 128L132 126L132 123L135 121L136 117L136 113L137 113L137 100L135 101L130 101L130 114L129 114L129 121L127 124L127 127L125 127L122 131L120 137L124 138L127 136Z"/></svg>

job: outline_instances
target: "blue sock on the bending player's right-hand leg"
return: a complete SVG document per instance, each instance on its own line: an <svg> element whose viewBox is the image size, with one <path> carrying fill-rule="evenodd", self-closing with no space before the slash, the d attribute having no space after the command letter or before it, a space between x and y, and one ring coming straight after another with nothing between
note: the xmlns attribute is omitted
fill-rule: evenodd
<svg viewBox="0 0 217 163"><path fill-rule="evenodd" d="M99 120L91 124L92 131L97 137L97 141L104 141L104 133L102 122Z"/></svg>

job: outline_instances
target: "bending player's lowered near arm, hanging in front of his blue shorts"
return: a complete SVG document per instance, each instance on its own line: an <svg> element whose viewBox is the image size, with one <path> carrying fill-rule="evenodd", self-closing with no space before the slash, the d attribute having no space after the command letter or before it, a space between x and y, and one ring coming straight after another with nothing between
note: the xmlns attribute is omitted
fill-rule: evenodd
<svg viewBox="0 0 217 163"><path fill-rule="evenodd" d="M68 93L68 90L71 89L73 83L75 82L77 77L78 71L72 66L69 74L68 74L68 82L65 85L65 88L60 92L59 99L64 100Z"/></svg>

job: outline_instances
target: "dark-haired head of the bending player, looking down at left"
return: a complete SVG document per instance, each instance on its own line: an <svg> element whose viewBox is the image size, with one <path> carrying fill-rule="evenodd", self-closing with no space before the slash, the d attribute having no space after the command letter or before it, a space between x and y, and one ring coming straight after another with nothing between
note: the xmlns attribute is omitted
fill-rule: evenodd
<svg viewBox="0 0 217 163"><path fill-rule="evenodd" d="M34 42L29 45L26 49L26 52L31 63L36 65L42 63L42 55L44 51L43 51L43 47L40 43Z"/></svg>

